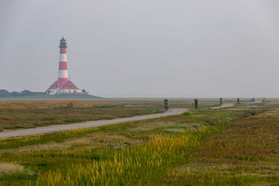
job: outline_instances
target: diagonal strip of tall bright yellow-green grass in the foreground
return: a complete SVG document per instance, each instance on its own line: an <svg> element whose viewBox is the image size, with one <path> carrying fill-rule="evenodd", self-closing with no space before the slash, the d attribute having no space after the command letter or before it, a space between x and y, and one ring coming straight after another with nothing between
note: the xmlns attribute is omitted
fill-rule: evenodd
<svg viewBox="0 0 279 186"><path fill-rule="evenodd" d="M156 183L169 166L185 162L185 151L202 147L204 137L220 126L200 127L195 132L176 136L157 136L143 146L114 151L89 164L70 164L66 169L39 176L37 185L145 185Z"/></svg>

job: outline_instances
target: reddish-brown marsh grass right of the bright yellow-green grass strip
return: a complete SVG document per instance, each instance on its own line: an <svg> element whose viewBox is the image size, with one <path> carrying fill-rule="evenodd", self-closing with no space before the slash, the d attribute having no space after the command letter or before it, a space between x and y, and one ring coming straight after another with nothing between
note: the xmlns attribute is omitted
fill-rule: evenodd
<svg viewBox="0 0 279 186"><path fill-rule="evenodd" d="M278 185L279 107L239 114L225 130L188 152L189 160L163 176L171 185Z"/></svg>

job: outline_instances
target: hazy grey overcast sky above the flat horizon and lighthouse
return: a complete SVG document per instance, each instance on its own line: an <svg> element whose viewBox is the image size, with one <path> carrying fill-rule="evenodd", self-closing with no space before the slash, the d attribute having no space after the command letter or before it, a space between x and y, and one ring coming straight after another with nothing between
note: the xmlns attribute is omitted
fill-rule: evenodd
<svg viewBox="0 0 279 186"><path fill-rule="evenodd" d="M278 0L0 1L0 89L68 75L100 96L279 97Z"/></svg>

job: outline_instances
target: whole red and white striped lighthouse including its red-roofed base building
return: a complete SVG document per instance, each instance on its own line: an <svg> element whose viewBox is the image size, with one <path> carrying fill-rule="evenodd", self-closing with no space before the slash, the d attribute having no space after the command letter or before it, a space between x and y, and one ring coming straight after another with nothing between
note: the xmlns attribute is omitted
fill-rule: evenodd
<svg viewBox="0 0 279 186"><path fill-rule="evenodd" d="M67 67L67 42L66 39L62 38L60 40L60 54L59 54L59 70L58 79L47 88L46 93L50 95L55 94L82 94L73 82L68 79L68 67Z"/></svg>

